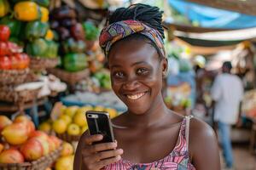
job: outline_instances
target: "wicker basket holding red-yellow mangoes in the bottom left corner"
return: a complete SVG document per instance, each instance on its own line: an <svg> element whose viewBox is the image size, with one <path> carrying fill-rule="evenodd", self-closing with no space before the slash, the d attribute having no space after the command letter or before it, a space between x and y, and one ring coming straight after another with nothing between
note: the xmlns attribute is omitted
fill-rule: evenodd
<svg viewBox="0 0 256 170"><path fill-rule="evenodd" d="M61 155L62 147L52 151L47 156L39 158L37 161L24 162L24 163L0 163L1 170L44 170L57 160Z"/></svg>

